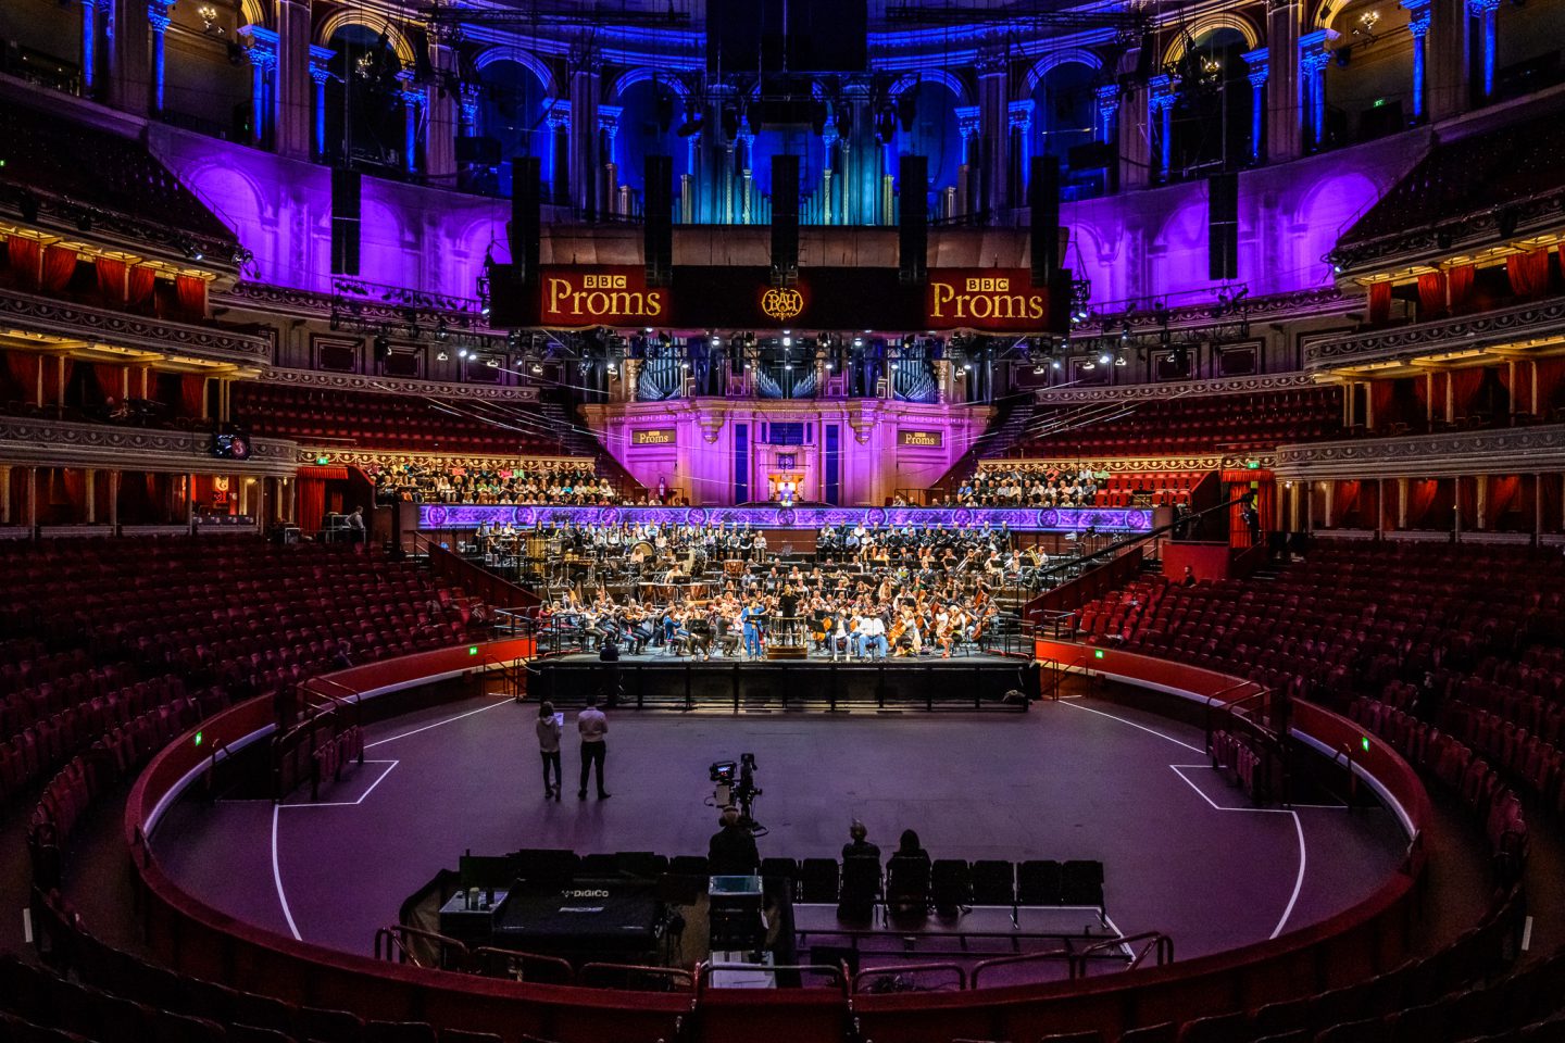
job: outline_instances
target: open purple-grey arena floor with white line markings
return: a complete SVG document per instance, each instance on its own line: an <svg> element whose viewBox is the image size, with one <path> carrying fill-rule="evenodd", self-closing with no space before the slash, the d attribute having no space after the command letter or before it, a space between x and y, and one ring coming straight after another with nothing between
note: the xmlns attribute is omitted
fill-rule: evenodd
<svg viewBox="0 0 1565 1043"><path fill-rule="evenodd" d="M565 799L543 799L534 719L490 696L377 724L366 763L319 804L183 802L153 848L219 910L368 954L463 851L704 854L707 765L753 752L762 855L836 855L858 816L887 852L912 827L936 858L1097 858L1113 924L1163 930L1186 960L1352 905L1405 846L1382 808L1250 808L1197 729L1097 699L1025 715L615 711L609 801L576 799L570 741Z"/></svg>

